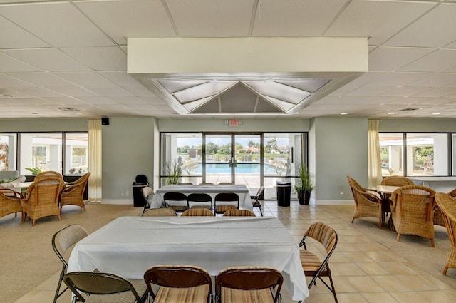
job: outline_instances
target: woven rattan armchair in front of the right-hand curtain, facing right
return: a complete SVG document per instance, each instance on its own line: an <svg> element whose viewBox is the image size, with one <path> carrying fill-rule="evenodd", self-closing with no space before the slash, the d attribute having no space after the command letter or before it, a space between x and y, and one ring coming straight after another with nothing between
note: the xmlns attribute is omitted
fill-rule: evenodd
<svg viewBox="0 0 456 303"><path fill-rule="evenodd" d="M383 208L378 194L366 190L349 176L347 176L347 180L353 193L353 200L355 200L355 213L351 222L353 223L353 220L359 217L376 217L378 218L378 228L382 228Z"/></svg>

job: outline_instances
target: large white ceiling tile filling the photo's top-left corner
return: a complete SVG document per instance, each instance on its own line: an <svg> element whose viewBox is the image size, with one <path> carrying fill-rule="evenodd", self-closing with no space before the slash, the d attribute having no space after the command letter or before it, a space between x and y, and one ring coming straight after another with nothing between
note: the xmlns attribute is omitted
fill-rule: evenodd
<svg viewBox="0 0 456 303"><path fill-rule="evenodd" d="M1 15L52 46L113 45L69 2L2 6Z"/></svg>

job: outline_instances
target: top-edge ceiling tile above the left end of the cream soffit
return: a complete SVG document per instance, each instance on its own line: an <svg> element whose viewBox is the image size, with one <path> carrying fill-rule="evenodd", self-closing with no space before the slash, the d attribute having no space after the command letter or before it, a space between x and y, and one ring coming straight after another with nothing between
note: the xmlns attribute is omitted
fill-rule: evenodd
<svg viewBox="0 0 456 303"><path fill-rule="evenodd" d="M126 44L130 37L176 36L161 1L78 1L75 5L118 44Z"/></svg>

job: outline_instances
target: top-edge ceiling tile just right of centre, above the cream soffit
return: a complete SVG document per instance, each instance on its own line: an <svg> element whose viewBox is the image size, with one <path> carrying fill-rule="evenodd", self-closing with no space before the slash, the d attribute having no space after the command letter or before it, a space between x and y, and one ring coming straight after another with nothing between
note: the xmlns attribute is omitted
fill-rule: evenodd
<svg viewBox="0 0 456 303"><path fill-rule="evenodd" d="M253 36L319 36L331 24L346 0L261 0ZM318 11L318 14L315 14Z"/></svg>

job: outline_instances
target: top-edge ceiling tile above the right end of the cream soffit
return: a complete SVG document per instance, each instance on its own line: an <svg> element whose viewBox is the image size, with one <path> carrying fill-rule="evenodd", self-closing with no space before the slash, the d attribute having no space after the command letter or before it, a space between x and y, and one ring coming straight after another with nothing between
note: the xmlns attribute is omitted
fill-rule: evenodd
<svg viewBox="0 0 456 303"><path fill-rule="evenodd" d="M380 45L432 6L435 4L353 0L334 21L326 35L372 37L369 45Z"/></svg>

